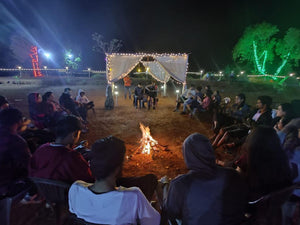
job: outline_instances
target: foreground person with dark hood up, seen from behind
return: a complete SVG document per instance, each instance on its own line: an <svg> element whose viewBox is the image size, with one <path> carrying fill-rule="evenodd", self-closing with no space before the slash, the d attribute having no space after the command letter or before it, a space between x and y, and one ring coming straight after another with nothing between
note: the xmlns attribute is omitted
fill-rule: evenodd
<svg viewBox="0 0 300 225"><path fill-rule="evenodd" d="M164 211L182 224L240 224L247 205L247 185L240 174L218 166L210 141L194 133L182 147L188 173L170 183Z"/></svg>

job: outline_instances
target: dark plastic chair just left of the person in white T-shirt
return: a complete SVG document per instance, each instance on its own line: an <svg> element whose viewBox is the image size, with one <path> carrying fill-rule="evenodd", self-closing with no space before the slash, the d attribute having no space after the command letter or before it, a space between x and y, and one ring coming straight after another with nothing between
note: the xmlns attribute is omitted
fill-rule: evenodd
<svg viewBox="0 0 300 225"><path fill-rule="evenodd" d="M68 191L70 184L44 178L31 177L30 180L36 185L38 193L50 204L56 215L56 224L62 223L62 210L68 205Z"/></svg>

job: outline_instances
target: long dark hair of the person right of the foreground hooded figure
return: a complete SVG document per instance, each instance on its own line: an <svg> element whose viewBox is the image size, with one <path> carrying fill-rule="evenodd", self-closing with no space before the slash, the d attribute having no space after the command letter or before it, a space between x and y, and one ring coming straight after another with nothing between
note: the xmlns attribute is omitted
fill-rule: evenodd
<svg viewBox="0 0 300 225"><path fill-rule="evenodd" d="M292 183L287 155L272 127L258 126L247 137L247 179L250 190L265 195Z"/></svg>

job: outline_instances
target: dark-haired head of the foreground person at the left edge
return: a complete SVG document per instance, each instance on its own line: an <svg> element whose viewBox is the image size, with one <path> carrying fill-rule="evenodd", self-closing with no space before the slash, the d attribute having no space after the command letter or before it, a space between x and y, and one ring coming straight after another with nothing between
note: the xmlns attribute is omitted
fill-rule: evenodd
<svg viewBox="0 0 300 225"><path fill-rule="evenodd" d="M8 108L0 111L0 127L12 127L21 123L23 119L22 112L15 108Z"/></svg>

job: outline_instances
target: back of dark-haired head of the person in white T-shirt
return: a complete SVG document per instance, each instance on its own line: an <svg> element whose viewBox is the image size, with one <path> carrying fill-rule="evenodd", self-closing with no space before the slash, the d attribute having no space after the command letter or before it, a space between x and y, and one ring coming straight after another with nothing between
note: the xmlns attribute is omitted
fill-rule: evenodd
<svg viewBox="0 0 300 225"><path fill-rule="evenodd" d="M125 151L124 142L114 136L97 140L92 145L90 161L90 168L96 180L107 178L116 172L117 168L121 170Z"/></svg>

